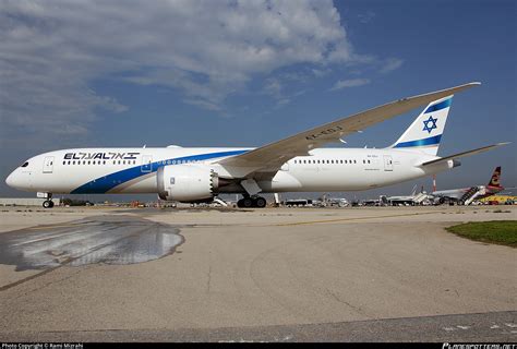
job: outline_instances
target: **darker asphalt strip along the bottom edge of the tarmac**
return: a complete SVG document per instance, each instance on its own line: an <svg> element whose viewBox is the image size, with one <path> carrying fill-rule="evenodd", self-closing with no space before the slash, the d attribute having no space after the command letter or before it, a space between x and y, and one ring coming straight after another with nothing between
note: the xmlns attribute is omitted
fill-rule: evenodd
<svg viewBox="0 0 517 349"><path fill-rule="evenodd" d="M22 333L7 341L515 341L516 312L262 327Z"/></svg>

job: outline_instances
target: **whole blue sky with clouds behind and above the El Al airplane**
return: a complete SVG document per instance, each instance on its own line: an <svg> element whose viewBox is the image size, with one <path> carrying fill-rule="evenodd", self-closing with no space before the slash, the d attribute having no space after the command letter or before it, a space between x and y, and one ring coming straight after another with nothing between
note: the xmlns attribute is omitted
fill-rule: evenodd
<svg viewBox="0 0 517 349"><path fill-rule="evenodd" d="M514 1L4 1L0 176L46 151L260 146L394 99L455 96L438 188L483 184L516 161ZM384 147L419 110L347 139ZM346 193L407 193L414 184ZM0 182L0 195L32 195ZM94 197L95 198L95 197Z"/></svg>

